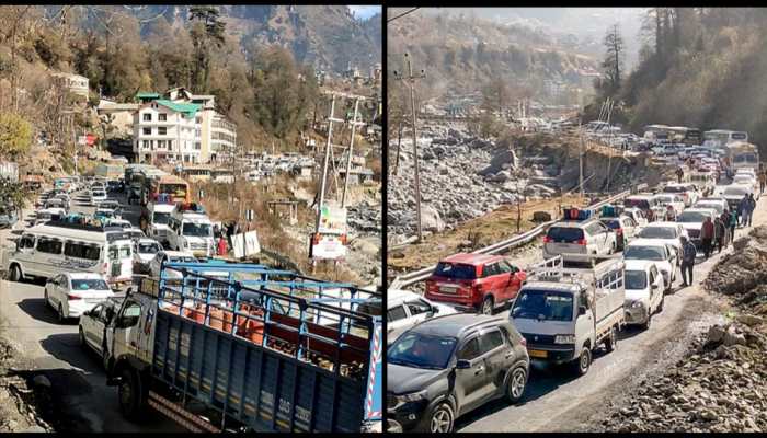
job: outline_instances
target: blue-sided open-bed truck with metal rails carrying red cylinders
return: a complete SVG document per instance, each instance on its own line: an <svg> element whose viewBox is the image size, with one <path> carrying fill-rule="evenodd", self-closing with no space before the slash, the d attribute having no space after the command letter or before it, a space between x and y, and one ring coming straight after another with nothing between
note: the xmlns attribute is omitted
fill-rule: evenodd
<svg viewBox="0 0 767 438"><path fill-rule="evenodd" d="M128 419L152 407L192 431L380 430L381 309L265 265L165 263L106 328L107 384Z"/></svg>

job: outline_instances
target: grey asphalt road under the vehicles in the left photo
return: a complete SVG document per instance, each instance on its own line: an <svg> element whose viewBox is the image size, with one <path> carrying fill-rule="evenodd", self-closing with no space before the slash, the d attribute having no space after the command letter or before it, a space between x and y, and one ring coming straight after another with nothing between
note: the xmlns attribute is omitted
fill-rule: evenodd
<svg viewBox="0 0 767 438"><path fill-rule="evenodd" d="M92 212L93 207L77 205L72 211ZM124 198L117 198L124 204ZM126 219L137 223L138 208L130 206ZM28 217L28 210L25 215ZM3 245L9 230L0 231ZM106 387L101 359L80 347L77 321L56 322L54 311L43 301L42 283L0 281L0 321L3 334L14 342L34 366L33 373L45 374L61 401L67 431L184 431L185 429L152 412L133 424L123 418L117 390Z"/></svg>

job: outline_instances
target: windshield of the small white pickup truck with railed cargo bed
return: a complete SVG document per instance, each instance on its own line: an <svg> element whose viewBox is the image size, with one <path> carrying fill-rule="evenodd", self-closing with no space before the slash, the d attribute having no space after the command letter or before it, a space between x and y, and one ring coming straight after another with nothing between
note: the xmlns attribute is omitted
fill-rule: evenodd
<svg viewBox="0 0 767 438"><path fill-rule="evenodd" d="M572 321L573 296L570 292L527 289L514 300L512 318L546 321Z"/></svg>

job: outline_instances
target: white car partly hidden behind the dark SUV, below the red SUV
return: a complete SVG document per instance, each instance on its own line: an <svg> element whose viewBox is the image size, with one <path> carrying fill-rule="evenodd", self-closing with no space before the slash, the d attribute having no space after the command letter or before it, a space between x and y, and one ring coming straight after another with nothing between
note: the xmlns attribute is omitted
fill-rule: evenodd
<svg viewBox="0 0 767 438"><path fill-rule="evenodd" d="M428 301L409 290L389 289L386 296L387 344L403 332L430 318L456 313L456 309Z"/></svg>

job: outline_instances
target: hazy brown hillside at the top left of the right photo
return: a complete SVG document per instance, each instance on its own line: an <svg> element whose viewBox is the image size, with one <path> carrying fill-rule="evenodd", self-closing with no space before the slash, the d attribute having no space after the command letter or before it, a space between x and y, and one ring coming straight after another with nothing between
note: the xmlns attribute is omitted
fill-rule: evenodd
<svg viewBox="0 0 767 438"><path fill-rule="evenodd" d="M572 88L591 88L584 69L596 68L593 57L573 51L540 30L500 24L477 16L420 10L388 26L388 69L399 69L402 54L413 55L425 69L427 94L477 91L491 79L527 88L547 97L545 81Z"/></svg>

